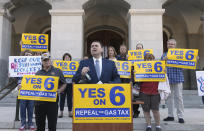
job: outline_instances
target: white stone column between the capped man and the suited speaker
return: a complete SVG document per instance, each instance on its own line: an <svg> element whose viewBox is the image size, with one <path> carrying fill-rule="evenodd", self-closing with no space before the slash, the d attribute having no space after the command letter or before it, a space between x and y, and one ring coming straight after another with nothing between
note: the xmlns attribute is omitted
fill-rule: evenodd
<svg viewBox="0 0 204 131"><path fill-rule="evenodd" d="M74 60L83 55L84 10L50 10L51 14L51 56L62 59L66 52Z"/></svg>

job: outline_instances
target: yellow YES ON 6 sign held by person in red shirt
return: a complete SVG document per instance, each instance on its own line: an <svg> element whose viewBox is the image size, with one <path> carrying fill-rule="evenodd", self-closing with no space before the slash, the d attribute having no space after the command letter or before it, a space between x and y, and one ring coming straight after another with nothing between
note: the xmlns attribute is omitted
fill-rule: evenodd
<svg viewBox="0 0 204 131"><path fill-rule="evenodd" d="M135 81L166 81L165 61L141 61L134 63Z"/></svg>

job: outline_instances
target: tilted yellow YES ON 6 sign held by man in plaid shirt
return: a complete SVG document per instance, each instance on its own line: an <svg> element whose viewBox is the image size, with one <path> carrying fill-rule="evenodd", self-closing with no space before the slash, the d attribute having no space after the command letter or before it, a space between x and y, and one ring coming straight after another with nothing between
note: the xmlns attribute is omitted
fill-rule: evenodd
<svg viewBox="0 0 204 131"><path fill-rule="evenodd" d="M197 49L169 49L166 66L196 69Z"/></svg>

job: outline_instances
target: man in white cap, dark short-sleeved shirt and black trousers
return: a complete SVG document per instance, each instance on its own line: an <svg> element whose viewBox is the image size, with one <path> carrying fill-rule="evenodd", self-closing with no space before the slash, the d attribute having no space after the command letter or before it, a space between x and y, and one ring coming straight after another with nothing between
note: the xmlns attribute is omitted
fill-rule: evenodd
<svg viewBox="0 0 204 131"><path fill-rule="evenodd" d="M59 77L58 92L63 92L66 88L66 81L60 69L51 65L49 53L44 53L42 58L42 69L36 75ZM46 117L48 119L49 131L56 131L58 114L58 98L56 102L35 101L35 116L37 131L45 131Z"/></svg>

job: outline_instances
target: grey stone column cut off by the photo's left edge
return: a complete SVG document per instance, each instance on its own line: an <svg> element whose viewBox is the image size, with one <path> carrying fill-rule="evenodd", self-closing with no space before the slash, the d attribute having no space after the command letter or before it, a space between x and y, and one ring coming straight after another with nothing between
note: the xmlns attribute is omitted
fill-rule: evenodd
<svg viewBox="0 0 204 131"><path fill-rule="evenodd" d="M8 60L11 48L11 23L0 10L0 88L8 78Z"/></svg>

